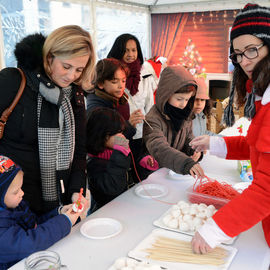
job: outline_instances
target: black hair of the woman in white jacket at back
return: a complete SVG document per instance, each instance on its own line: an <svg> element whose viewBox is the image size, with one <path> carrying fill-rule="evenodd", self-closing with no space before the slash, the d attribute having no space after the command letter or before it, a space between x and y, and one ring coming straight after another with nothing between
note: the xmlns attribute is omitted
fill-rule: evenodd
<svg viewBox="0 0 270 270"><path fill-rule="evenodd" d="M131 35L131 34L122 34L119 37L116 38L114 41L114 44L108 53L107 57L108 58L116 58L118 60L122 60L123 56L126 52L126 45L129 40L134 40L136 42L137 46L137 52L138 52L138 59L141 62L141 65L143 64L143 54L142 54L142 49L139 40Z"/></svg>

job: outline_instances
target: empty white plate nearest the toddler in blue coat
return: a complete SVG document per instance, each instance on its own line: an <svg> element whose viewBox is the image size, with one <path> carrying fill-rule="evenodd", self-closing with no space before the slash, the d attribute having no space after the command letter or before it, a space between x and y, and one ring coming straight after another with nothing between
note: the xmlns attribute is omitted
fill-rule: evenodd
<svg viewBox="0 0 270 270"><path fill-rule="evenodd" d="M112 218L94 218L81 226L81 234L92 239L106 239L119 234L123 227Z"/></svg>

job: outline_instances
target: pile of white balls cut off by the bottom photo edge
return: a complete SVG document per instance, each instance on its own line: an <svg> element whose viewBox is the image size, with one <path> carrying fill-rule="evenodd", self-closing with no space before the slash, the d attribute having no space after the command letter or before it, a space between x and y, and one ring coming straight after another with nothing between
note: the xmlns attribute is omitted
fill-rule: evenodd
<svg viewBox="0 0 270 270"><path fill-rule="evenodd" d="M156 263L149 263L142 260L135 260L128 257L116 259L108 270L162 270L164 267Z"/></svg>

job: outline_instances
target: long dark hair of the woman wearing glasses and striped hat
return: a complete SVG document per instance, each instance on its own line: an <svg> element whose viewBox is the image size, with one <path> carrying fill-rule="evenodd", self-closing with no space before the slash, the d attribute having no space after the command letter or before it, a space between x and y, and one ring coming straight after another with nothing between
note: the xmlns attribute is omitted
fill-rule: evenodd
<svg viewBox="0 0 270 270"><path fill-rule="evenodd" d="M256 64L252 72L253 86L256 89L256 94L258 96L263 96L266 88L270 84L270 48L269 46L267 47L267 56ZM246 101L246 81L248 80L248 76L245 74L239 64L235 65L233 73L237 103L239 106L241 106L244 105Z"/></svg>

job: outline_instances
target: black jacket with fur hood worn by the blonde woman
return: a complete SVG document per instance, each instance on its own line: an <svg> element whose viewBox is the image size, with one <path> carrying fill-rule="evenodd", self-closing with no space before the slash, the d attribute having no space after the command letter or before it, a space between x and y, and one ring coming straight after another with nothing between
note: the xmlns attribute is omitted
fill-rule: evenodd
<svg viewBox="0 0 270 270"><path fill-rule="evenodd" d="M0 140L0 154L10 157L24 171L24 199L30 203L36 213L48 211L48 206L42 200L41 179L37 132L37 96L39 83L43 82L48 88L54 83L44 72L42 47L45 37L34 34L25 37L16 45L15 56L26 76L24 93L10 115L5 125L4 136ZM0 72L0 114L13 101L21 82L21 76L16 68L5 68ZM59 204L70 203L71 195L85 190L86 170L86 113L83 90L72 85L74 95L71 99L75 118L75 152L72 167L68 171L57 173L57 180L63 179L65 193L60 196ZM43 106L43 105L42 105ZM44 126L58 127L58 106L44 101L46 117L43 115ZM41 118L42 118L41 115ZM41 121L41 119L40 119ZM59 185L57 183L57 185Z"/></svg>

